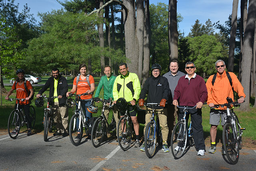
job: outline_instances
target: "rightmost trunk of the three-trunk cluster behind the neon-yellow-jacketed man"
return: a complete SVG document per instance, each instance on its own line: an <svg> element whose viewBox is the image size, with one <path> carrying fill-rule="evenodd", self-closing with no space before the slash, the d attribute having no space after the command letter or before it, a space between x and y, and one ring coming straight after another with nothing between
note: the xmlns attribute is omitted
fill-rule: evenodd
<svg viewBox="0 0 256 171"><path fill-rule="evenodd" d="M149 63L150 63L150 13L149 13L149 0L145 0L145 18L144 18L144 49L143 49L143 71L142 71L142 83L143 85L149 73Z"/></svg>

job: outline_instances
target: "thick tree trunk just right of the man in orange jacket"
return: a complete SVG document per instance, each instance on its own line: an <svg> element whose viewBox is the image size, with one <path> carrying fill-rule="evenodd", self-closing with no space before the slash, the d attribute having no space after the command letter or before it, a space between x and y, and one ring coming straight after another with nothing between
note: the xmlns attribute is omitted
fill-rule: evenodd
<svg viewBox="0 0 256 171"><path fill-rule="evenodd" d="M249 1L248 18L246 22L246 28L244 30L244 43L242 52L242 85L244 87L244 93L246 95L246 101L241 104L240 108L246 111L250 107L250 72L252 62L252 49L253 49L253 36L254 25L256 17L256 0Z"/></svg>

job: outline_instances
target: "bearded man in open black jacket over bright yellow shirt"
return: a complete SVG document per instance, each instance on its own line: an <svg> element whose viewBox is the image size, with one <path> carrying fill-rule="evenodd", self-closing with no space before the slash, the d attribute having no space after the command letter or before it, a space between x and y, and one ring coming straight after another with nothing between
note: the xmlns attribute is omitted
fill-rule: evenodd
<svg viewBox="0 0 256 171"><path fill-rule="evenodd" d="M56 135L68 135L68 109L65 105L66 93L68 92L68 83L66 78L60 75L58 68L52 69L52 76L46 81L46 84L40 89L36 97L40 97L46 89L50 87L49 97L58 96L58 98L49 99L52 105L54 122L56 123Z"/></svg>

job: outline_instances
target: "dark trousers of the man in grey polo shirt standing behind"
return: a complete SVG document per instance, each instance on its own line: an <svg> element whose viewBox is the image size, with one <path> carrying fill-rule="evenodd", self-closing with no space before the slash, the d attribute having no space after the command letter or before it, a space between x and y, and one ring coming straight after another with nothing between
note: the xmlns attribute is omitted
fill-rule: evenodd
<svg viewBox="0 0 256 171"><path fill-rule="evenodd" d="M170 141L172 137L172 129L176 125L176 120L178 119L178 108L174 105L168 105L167 111L167 124L169 128L168 141Z"/></svg>

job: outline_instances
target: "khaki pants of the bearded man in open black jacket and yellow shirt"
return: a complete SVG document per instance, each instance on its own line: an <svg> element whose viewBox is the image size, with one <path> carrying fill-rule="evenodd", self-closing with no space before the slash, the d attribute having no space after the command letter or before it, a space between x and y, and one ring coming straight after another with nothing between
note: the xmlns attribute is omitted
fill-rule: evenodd
<svg viewBox="0 0 256 171"><path fill-rule="evenodd" d="M59 133L68 133L68 109L65 105L59 106L59 102L52 105L52 113L56 129Z"/></svg>

